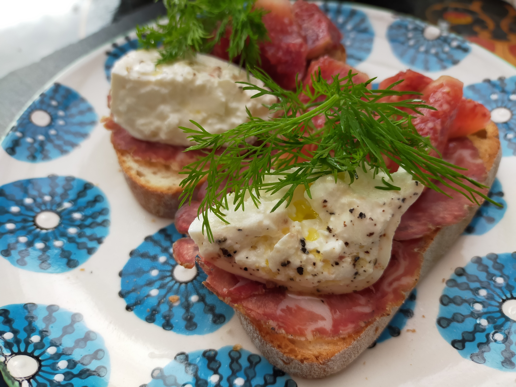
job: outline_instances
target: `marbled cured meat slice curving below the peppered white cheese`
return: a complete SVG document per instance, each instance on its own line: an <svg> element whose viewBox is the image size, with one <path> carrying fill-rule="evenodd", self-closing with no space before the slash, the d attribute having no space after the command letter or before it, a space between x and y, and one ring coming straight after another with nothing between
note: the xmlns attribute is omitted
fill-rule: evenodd
<svg viewBox="0 0 516 387"><path fill-rule="evenodd" d="M298 337L345 336L360 332L364 326L400 305L415 285L422 264L416 251L423 239L395 242L393 255L382 277L360 292L320 297L287 294L279 287L266 288L249 281L253 294L240 292L238 276L209 264L202 264L208 275L205 285L224 302L247 316L271 325L277 332ZM201 262L202 259L201 259ZM293 318L295 316L295 318Z"/></svg>

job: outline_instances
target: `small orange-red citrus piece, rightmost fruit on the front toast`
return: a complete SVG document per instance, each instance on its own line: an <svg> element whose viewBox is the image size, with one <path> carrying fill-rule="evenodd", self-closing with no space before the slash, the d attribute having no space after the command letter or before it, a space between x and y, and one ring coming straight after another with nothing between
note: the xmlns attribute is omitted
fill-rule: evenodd
<svg viewBox="0 0 516 387"><path fill-rule="evenodd" d="M448 138L467 136L487 126L491 112L481 103L462 98Z"/></svg>

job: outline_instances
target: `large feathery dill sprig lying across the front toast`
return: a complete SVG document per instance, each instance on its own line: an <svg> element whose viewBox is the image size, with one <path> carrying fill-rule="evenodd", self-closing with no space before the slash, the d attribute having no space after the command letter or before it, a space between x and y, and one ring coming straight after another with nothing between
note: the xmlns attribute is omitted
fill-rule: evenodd
<svg viewBox="0 0 516 387"><path fill-rule="evenodd" d="M309 87L287 91L276 84L265 72L249 69L265 87L246 82L244 90L255 91L257 96L270 94L278 102L270 106L270 121L251 117L249 121L222 134L211 134L194 121L196 129L182 127L197 145L187 150L205 150L205 156L186 166L182 172L186 178L181 182L183 204L191 201L195 188L207 179L206 196L199 212L203 216L202 230L206 230L208 240L213 241L213 233L208 222L208 211L221 220L228 210L228 195L233 200L235 210L244 209L244 199L249 196L257 206L263 192L278 192L287 187L286 193L272 211L283 202L292 200L294 190L304 185L311 198L310 183L324 175L349 174L351 183L356 178L356 170L372 169L374 175L383 171L391 178L383 155L389 157L410 173L414 180L436 191L443 192L436 184L447 187L478 204L476 196L489 198L476 188L482 184L460 172L464 168L429 155L435 150L429 138L417 133L412 124L412 114L422 114L420 109L432 109L422 100L404 100L393 103L379 102L388 95L414 94L413 91L395 91L393 86L385 90L367 89L366 83L354 84L351 71L347 76L333 77L328 83L319 73L312 76L313 90ZM303 102L301 93L307 95ZM407 112L407 111L410 112ZM326 123L316 128L312 118L324 115ZM256 141L250 141L251 138ZM266 175L275 175L278 180L266 183ZM469 182L470 184L466 184ZM382 184L383 183L383 184ZM385 179L379 182L379 189L399 189Z"/></svg>

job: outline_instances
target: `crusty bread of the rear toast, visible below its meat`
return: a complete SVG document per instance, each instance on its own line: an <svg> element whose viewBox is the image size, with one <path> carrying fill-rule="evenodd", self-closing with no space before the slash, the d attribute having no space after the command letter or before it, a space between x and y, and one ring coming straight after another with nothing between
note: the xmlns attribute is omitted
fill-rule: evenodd
<svg viewBox="0 0 516 387"><path fill-rule="evenodd" d="M179 207L184 176L168 164L135 158L131 153L116 150L125 180L138 203L160 218L173 218ZM194 192L197 197L197 192Z"/></svg>

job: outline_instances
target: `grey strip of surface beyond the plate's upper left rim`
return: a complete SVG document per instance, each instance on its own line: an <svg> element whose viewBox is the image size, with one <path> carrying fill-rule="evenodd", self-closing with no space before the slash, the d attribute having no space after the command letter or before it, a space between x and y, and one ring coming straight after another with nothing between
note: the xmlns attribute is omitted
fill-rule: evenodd
<svg viewBox="0 0 516 387"><path fill-rule="evenodd" d="M161 2L142 7L97 33L0 79L0 139L7 133L8 125L31 97L70 63L133 29L137 24L146 23L165 13L165 7Z"/></svg>

